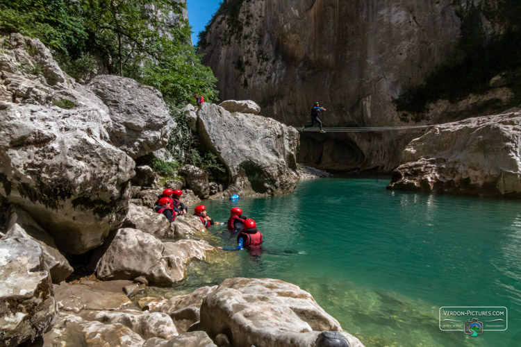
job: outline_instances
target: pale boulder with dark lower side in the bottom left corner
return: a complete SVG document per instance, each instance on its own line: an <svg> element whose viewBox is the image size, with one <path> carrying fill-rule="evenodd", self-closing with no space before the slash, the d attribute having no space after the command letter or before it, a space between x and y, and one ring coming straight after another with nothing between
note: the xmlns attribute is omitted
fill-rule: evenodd
<svg viewBox="0 0 521 347"><path fill-rule="evenodd" d="M51 328L56 302L42 248L31 239L0 241L0 346L18 346Z"/></svg>

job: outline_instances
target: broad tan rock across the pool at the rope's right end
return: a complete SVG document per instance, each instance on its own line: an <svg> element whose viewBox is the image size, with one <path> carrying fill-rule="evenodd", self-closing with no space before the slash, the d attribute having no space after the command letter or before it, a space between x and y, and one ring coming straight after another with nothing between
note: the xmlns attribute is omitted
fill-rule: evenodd
<svg viewBox="0 0 521 347"><path fill-rule="evenodd" d="M390 189L521 197L521 112L442 124L413 140Z"/></svg>

